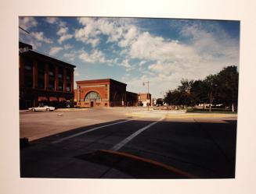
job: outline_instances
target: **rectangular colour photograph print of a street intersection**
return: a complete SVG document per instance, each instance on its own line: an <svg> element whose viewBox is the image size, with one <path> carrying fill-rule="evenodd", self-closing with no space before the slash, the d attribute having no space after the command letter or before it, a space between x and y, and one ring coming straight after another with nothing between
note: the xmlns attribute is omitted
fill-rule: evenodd
<svg viewBox="0 0 256 194"><path fill-rule="evenodd" d="M240 21L17 27L21 178L236 178Z"/></svg>

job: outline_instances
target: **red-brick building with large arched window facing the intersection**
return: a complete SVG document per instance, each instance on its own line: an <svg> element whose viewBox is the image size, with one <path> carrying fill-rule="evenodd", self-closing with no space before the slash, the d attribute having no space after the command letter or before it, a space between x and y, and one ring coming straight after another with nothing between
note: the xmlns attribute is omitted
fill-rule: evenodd
<svg viewBox="0 0 256 194"><path fill-rule="evenodd" d="M126 84L114 79L77 81L74 100L80 107L116 107L137 105L137 93L126 91Z"/></svg>

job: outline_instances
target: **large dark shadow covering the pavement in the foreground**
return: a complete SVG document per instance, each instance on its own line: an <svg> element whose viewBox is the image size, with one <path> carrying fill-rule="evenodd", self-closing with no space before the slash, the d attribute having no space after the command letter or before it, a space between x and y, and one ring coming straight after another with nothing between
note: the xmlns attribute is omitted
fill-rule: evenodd
<svg viewBox="0 0 256 194"><path fill-rule="evenodd" d="M169 171L135 157L103 152L152 121L133 120L112 125L60 143L52 141L83 132L101 123L34 140L20 149L22 178L235 178L236 121L158 122L136 136L121 153L179 169ZM128 176L126 176L128 175Z"/></svg>

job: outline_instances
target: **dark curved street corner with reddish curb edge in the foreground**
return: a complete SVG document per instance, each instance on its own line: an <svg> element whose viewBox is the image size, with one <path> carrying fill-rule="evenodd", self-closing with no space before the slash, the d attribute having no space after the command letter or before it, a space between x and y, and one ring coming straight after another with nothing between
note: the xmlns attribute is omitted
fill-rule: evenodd
<svg viewBox="0 0 256 194"><path fill-rule="evenodd" d="M131 153L96 150L77 156L80 160L115 168L133 178L196 178L186 171ZM129 165L128 165L129 164Z"/></svg>

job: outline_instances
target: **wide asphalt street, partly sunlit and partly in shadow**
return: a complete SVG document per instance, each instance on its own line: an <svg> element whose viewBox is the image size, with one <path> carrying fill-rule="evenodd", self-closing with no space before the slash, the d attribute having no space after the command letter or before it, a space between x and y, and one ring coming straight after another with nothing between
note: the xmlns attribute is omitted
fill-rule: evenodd
<svg viewBox="0 0 256 194"><path fill-rule="evenodd" d="M23 178L234 178L236 116L141 108L20 113ZM134 113L140 112L140 116ZM133 115L132 115L133 114Z"/></svg>

